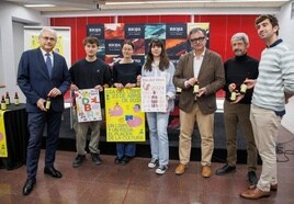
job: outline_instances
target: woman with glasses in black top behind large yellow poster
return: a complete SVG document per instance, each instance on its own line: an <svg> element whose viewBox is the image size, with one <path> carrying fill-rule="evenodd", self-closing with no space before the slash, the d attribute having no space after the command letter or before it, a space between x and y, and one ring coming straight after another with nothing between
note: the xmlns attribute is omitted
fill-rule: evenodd
<svg viewBox="0 0 294 204"><path fill-rule="evenodd" d="M113 82L118 90L124 88L131 89L139 86L137 77L140 76L142 65L136 63L132 55L134 53L134 44L131 41L125 41L122 44L123 58L113 66ZM116 144L116 165L126 165L129 159L136 154L136 144L134 143L117 143Z"/></svg>

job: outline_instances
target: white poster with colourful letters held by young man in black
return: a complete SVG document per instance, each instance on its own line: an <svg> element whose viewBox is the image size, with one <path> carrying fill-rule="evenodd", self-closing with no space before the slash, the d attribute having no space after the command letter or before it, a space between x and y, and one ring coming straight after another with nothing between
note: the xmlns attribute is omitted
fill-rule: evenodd
<svg viewBox="0 0 294 204"><path fill-rule="evenodd" d="M75 91L78 122L102 121L99 90Z"/></svg>

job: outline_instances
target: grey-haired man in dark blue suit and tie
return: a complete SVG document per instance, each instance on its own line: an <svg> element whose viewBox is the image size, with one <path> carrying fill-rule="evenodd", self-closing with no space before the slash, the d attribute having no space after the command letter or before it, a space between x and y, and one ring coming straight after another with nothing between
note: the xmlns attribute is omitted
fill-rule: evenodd
<svg viewBox="0 0 294 204"><path fill-rule="evenodd" d="M64 94L70 86L70 76L65 58L53 52L57 41L56 31L45 27L41 31L38 39L38 48L22 54L18 72L18 83L26 97L30 131L26 156L27 180L23 186L23 195L29 195L36 182L42 137L46 124L44 173L54 178L63 177L55 169L54 161L64 111Z"/></svg>

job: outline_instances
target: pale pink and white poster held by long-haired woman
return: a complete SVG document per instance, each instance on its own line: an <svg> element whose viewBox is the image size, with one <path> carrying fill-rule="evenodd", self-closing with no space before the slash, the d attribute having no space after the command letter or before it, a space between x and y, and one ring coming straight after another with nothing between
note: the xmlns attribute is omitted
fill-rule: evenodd
<svg viewBox="0 0 294 204"><path fill-rule="evenodd" d="M167 112L166 78L143 77L142 84L142 111Z"/></svg>

